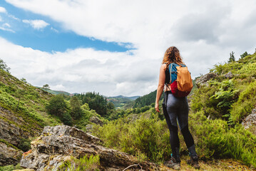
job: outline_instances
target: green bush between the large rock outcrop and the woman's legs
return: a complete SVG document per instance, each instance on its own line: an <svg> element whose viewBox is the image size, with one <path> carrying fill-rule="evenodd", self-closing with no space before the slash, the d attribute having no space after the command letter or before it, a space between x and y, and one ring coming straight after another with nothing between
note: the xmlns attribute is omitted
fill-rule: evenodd
<svg viewBox="0 0 256 171"><path fill-rule="evenodd" d="M153 162L161 162L170 157L168 127L158 115L153 115L150 119L141 115L133 123L127 118L120 118L103 127L94 127L93 134L101 138L107 147L132 155L146 155Z"/></svg>

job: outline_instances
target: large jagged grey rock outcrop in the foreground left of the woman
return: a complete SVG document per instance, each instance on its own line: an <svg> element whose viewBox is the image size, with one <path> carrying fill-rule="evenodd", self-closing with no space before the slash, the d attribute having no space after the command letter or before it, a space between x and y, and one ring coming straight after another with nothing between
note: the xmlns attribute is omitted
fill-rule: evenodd
<svg viewBox="0 0 256 171"><path fill-rule="evenodd" d="M103 147L93 135L67 125L45 127L39 138L31 142L31 151L23 155L21 167L34 170L58 170L63 161L85 155L99 155L100 170L123 170L130 165L134 170L160 170L151 162L140 162L136 157Z"/></svg>

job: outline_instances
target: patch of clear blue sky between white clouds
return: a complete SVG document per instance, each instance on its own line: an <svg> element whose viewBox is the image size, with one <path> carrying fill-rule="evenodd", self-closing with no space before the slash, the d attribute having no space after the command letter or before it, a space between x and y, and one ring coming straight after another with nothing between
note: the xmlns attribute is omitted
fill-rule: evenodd
<svg viewBox="0 0 256 171"><path fill-rule="evenodd" d="M77 33L63 29L61 23L53 21L47 16L34 14L24 9L16 8L6 1L1 1L0 6L4 7L8 13L1 14L1 24L11 24L5 26L9 31L0 29L0 36L24 47L31 47L40 51L66 51L74 48L94 48L101 51L128 51L130 43L117 43L101 41L93 37L80 36ZM46 26L33 28L24 20L41 20L46 22Z"/></svg>

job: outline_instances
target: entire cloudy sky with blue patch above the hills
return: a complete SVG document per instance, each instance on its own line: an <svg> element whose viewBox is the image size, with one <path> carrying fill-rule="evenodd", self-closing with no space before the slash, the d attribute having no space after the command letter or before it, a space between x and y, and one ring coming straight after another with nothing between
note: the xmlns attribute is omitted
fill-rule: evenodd
<svg viewBox="0 0 256 171"><path fill-rule="evenodd" d="M0 0L0 58L17 78L69 93L145 95L163 55L195 78L255 53L255 0Z"/></svg>

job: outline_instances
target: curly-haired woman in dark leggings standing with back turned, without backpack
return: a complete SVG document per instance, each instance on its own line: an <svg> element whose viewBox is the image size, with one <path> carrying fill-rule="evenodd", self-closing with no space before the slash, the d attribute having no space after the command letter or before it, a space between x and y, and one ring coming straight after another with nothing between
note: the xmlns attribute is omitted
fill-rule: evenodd
<svg viewBox="0 0 256 171"><path fill-rule="evenodd" d="M190 152L190 160L188 163L195 168L200 168L198 165L198 155L195 152L195 144L193 137L188 130L188 99L176 98L170 91L170 72L168 66L170 63L176 63L178 65L184 65L178 48L171 46L165 51L163 57L163 63L160 67L158 90L155 99L155 110L159 110L159 100L163 93L165 86L165 100L163 103L163 114L170 130L170 146L172 148L171 158L165 165L172 167L173 169L180 169L180 140L178 138L178 125L181 133L183 134L185 144ZM175 64L173 64L175 66ZM178 121L178 124L177 124Z"/></svg>

